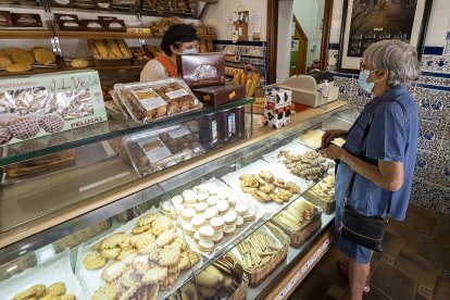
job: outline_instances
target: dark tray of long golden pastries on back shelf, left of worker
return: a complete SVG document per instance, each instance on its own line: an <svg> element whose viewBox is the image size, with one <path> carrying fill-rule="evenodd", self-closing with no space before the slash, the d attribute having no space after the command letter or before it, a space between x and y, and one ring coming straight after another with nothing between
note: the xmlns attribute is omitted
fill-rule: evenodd
<svg viewBox="0 0 450 300"><path fill-rule="evenodd" d="M129 66L133 54L123 39L88 39L97 66Z"/></svg>

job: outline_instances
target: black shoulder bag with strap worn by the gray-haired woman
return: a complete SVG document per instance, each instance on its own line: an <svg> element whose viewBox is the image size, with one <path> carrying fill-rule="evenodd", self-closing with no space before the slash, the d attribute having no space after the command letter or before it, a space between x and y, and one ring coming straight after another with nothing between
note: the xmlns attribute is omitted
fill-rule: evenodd
<svg viewBox="0 0 450 300"><path fill-rule="evenodd" d="M366 138L368 130L371 129L373 118L374 114L372 115L363 132L363 150L361 151L361 158L364 153ZM387 220L380 216L366 216L364 214L360 214L353 208L347 205L355 177L357 172L353 172L349 182L349 186L347 188L346 200L343 202L343 214L339 226L339 238L345 237L354 243L361 245L377 252L383 252L382 242L385 235ZM390 201L388 203L388 207L390 207Z"/></svg>

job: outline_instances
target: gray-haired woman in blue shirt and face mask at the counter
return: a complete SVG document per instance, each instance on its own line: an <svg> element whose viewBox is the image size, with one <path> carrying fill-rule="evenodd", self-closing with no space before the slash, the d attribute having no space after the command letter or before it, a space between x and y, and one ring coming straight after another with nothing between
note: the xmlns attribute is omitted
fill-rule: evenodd
<svg viewBox="0 0 450 300"><path fill-rule="evenodd" d="M349 130L326 130L322 138L321 154L339 162L335 239L343 254L339 272L349 280L345 299L362 299L370 291L372 258L372 250L340 237L345 201L363 215L400 221L405 217L418 135L417 109L408 85L417 74L413 46L400 40L371 45L363 54L359 84L375 97ZM330 143L336 137L347 139L342 148Z"/></svg>

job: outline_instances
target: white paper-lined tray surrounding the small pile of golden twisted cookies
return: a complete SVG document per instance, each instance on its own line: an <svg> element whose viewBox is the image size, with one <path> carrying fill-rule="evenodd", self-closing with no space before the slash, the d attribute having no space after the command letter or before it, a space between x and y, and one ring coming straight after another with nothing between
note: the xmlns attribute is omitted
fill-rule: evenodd
<svg viewBox="0 0 450 300"><path fill-rule="evenodd" d="M277 211L285 208L292 200L297 199L299 193L293 195L289 201L278 204L274 201L261 202L254 199L250 193L246 193L241 190L239 176L243 174L259 174L261 171L268 171L274 174L275 177L280 177L285 182L293 182L301 190L299 193L308 189L308 184L303 179L293 176L289 172L278 168L277 164L270 164L263 160L259 160L252 164L249 164L240 170L229 173L222 177L222 179L248 204L252 205L257 210L257 217L263 217L264 220L272 218Z"/></svg>

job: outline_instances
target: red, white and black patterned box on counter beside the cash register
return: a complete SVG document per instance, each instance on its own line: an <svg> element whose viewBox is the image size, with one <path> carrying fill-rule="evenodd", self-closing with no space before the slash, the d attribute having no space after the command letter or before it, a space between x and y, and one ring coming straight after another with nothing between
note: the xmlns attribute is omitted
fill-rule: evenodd
<svg viewBox="0 0 450 300"><path fill-rule="evenodd" d="M264 90L264 124L279 128L290 124L292 91L278 87Z"/></svg>

